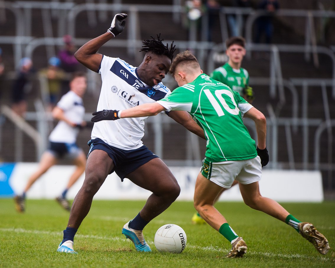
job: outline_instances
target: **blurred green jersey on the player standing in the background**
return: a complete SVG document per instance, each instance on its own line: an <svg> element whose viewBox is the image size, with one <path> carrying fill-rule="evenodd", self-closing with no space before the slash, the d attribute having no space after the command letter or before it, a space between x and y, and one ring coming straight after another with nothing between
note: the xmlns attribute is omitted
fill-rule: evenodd
<svg viewBox="0 0 335 268"><path fill-rule="evenodd" d="M239 92L241 96L243 96L243 89L249 85L248 71L244 68L240 68L240 70L233 69L228 63L216 68L210 74L210 77Z"/></svg>

